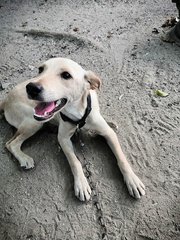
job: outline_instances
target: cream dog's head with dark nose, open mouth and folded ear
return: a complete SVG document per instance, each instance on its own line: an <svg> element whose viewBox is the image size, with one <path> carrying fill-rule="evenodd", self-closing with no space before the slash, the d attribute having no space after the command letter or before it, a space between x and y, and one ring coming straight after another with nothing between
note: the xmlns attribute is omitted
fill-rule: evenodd
<svg viewBox="0 0 180 240"><path fill-rule="evenodd" d="M26 86L28 97L40 101L34 117L51 119L66 104L80 99L87 89L99 88L100 79L66 58L52 58L39 67L39 75Z"/></svg>

